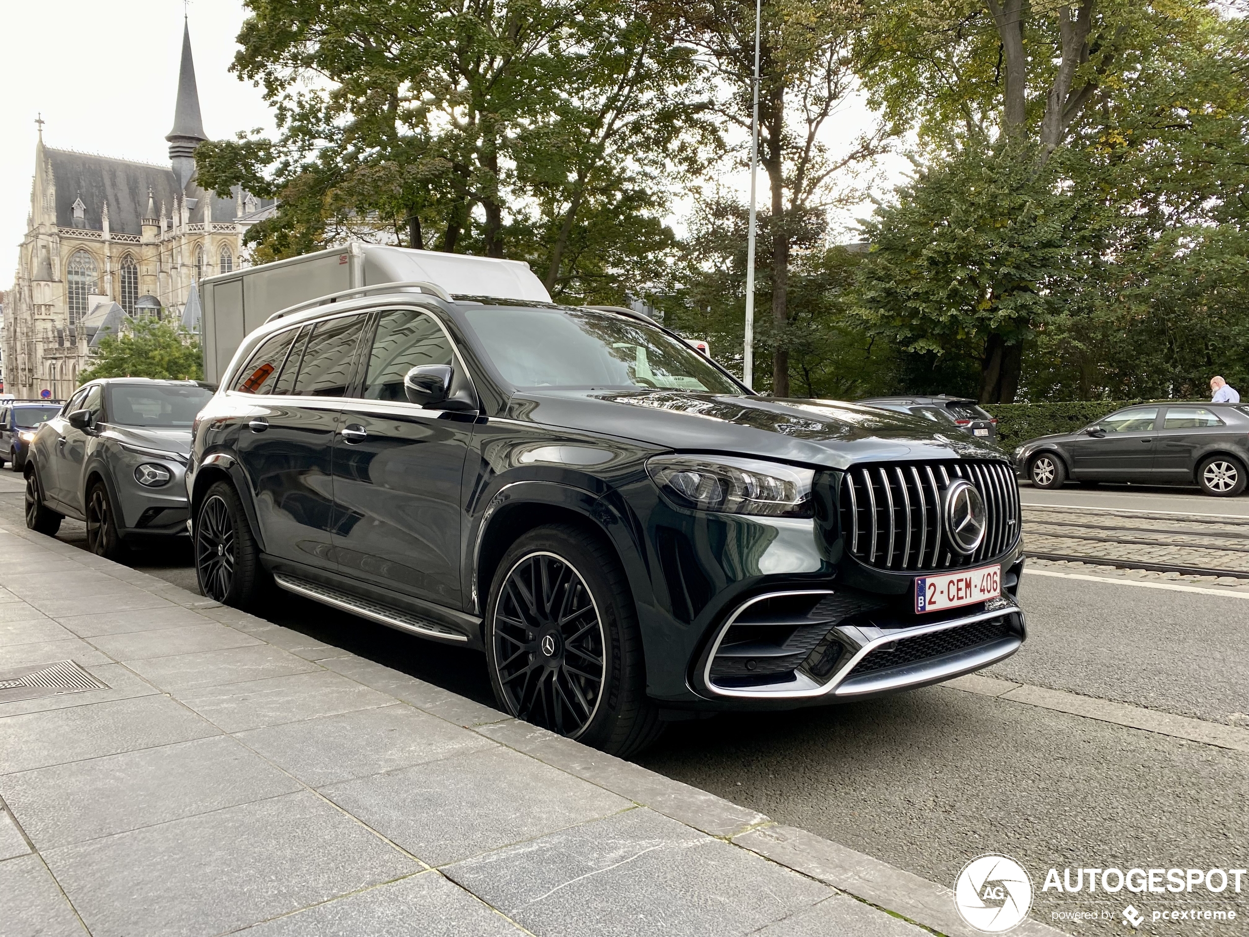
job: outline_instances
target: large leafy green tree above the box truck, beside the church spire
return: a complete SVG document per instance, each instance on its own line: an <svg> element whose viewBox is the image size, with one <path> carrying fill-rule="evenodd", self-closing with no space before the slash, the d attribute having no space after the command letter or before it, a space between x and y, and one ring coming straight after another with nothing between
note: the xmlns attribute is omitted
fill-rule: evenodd
<svg viewBox="0 0 1249 937"><path fill-rule="evenodd" d="M634 4L249 5L232 67L264 86L281 136L197 157L201 184L279 199L249 232L261 257L365 236L521 256L572 295L601 286L608 257L646 269L654 244L629 254L611 212L662 229L657 177L696 161L707 130L684 91L693 50Z"/></svg>

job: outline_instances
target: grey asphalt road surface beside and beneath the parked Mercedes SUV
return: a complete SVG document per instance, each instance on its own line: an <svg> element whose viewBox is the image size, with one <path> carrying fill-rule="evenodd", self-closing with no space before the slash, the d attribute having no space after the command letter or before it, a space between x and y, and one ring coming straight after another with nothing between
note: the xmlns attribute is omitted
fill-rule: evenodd
<svg viewBox="0 0 1249 937"><path fill-rule="evenodd" d="M14 482L0 477L2 523L22 522ZM1158 503L1132 507L1170 510ZM1185 498L1177 510L1194 507ZM81 543L81 525L66 522L60 536ZM195 587L189 551L135 553L131 563ZM1029 575L1022 595L1028 643L992 676L1249 725L1249 600ZM491 702L477 653L294 596L269 617ZM980 853L1010 855L1033 873L1038 920L1055 910L1112 913L1109 921L1062 923L1079 935L1122 935L1119 912L1129 898L1148 912L1174 905L1173 896L1042 893L1052 866L1249 867L1249 755L947 687L676 723L638 761L936 882L953 885ZM1239 902L1234 897L1222 906L1249 922L1249 887ZM1240 922L1145 925L1142 932L1249 933Z"/></svg>

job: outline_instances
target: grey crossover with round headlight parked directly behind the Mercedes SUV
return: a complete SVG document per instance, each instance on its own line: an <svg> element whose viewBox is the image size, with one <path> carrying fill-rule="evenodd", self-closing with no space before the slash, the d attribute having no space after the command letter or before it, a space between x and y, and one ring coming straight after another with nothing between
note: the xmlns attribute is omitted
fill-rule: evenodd
<svg viewBox="0 0 1249 937"><path fill-rule="evenodd" d="M212 391L194 381L91 381L31 444L26 526L86 522L87 546L115 557L140 537L186 536L191 422Z"/></svg>

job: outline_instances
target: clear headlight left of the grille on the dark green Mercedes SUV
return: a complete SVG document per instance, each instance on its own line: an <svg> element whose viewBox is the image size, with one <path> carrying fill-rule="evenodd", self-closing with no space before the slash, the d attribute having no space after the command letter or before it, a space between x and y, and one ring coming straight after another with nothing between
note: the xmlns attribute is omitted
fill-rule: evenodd
<svg viewBox="0 0 1249 937"><path fill-rule="evenodd" d="M813 468L728 456L657 456L646 464L668 498L697 511L811 517Z"/></svg>

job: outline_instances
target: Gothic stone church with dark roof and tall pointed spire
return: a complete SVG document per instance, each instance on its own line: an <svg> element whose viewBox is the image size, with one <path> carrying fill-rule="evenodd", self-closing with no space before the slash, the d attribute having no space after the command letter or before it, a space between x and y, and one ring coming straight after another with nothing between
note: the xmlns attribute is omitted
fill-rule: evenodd
<svg viewBox="0 0 1249 937"><path fill-rule="evenodd" d="M195 284L242 264L244 231L271 209L247 192L220 199L196 184L195 147L207 136L189 27L165 139L170 165L156 166L54 149L40 121L30 216L4 316L6 394L69 397L101 326L124 316L181 321Z"/></svg>

